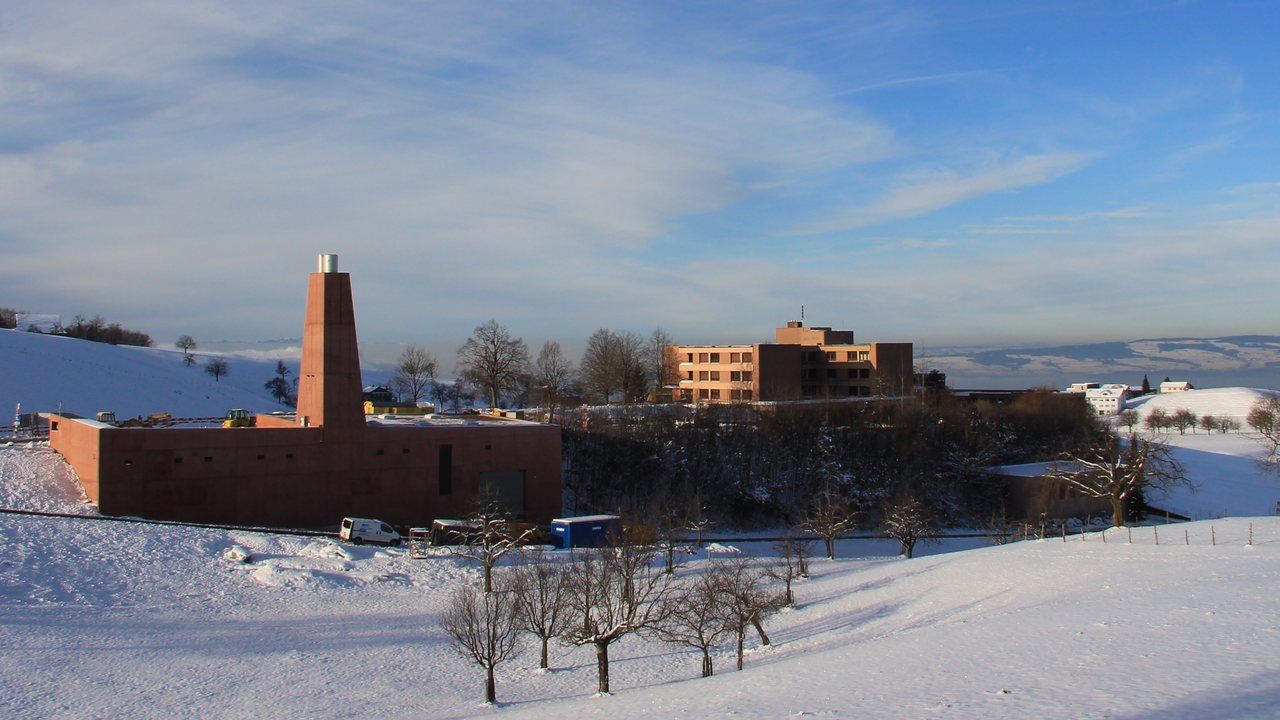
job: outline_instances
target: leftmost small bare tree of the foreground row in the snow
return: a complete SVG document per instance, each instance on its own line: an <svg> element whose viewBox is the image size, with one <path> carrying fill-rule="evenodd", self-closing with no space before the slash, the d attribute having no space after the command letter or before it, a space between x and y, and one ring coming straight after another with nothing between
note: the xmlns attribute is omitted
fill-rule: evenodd
<svg viewBox="0 0 1280 720"><path fill-rule="evenodd" d="M485 670L485 702L498 700L494 669L520 655L520 623L516 596L511 592L476 592L460 587L440 615L440 628L453 650Z"/></svg>

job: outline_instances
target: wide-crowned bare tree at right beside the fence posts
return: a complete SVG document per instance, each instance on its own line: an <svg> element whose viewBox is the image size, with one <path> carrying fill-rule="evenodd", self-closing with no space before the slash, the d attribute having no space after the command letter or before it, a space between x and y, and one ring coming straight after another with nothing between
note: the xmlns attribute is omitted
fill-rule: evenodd
<svg viewBox="0 0 1280 720"><path fill-rule="evenodd" d="M1187 471L1165 445L1130 434L1102 433L1084 451L1064 454L1050 477L1088 497L1111 501L1111 523L1125 521L1125 501L1147 488L1192 487Z"/></svg>

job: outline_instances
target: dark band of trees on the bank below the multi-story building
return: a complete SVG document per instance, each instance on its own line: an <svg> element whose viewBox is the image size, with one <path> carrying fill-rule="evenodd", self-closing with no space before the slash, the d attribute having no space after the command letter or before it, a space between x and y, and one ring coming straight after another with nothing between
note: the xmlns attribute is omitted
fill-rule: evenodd
<svg viewBox="0 0 1280 720"><path fill-rule="evenodd" d="M672 409L643 420L563 432L564 482L584 512L639 511L672 496L728 525L797 523L818 496L870 521L911 493L942 525L1002 512L1004 483L987 468L1051 460L1088 442L1096 420L1052 392L1007 405L946 393L919 401L746 409Z"/></svg>

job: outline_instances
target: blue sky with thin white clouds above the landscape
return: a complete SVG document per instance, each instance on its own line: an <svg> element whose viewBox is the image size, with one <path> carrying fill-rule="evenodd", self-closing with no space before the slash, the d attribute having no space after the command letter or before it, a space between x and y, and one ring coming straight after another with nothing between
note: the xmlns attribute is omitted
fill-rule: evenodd
<svg viewBox="0 0 1280 720"><path fill-rule="evenodd" d="M9 3L0 306L161 343L1280 334L1265 3Z"/></svg>

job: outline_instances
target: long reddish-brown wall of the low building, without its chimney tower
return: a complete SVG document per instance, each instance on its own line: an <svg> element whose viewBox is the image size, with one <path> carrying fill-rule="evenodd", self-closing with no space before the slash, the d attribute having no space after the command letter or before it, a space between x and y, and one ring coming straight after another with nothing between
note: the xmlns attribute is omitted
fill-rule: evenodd
<svg viewBox="0 0 1280 720"><path fill-rule="evenodd" d="M471 509L480 473L525 471L526 518L561 512L559 427L99 429L60 419L52 436L108 515L326 528L343 516L429 524ZM452 493L439 448L453 446ZM82 470L83 468L83 470Z"/></svg>

